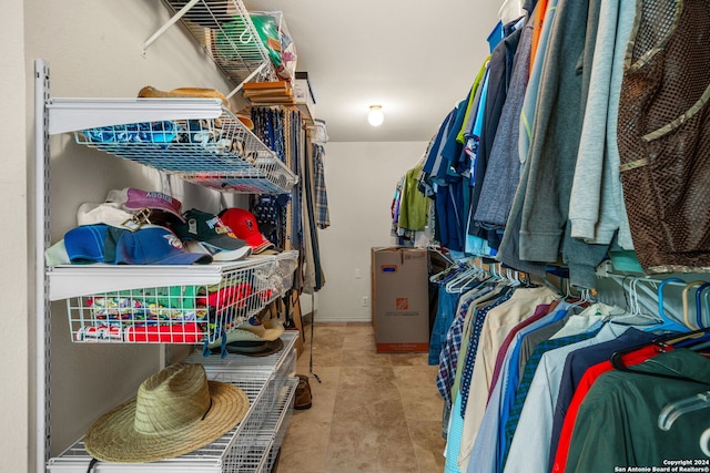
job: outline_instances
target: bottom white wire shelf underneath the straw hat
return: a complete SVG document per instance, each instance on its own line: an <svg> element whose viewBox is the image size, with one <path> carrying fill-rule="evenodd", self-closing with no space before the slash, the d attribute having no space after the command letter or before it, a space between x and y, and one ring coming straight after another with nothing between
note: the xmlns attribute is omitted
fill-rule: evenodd
<svg viewBox="0 0 710 473"><path fill-rule="evenodd" d="M293 397L297 380L284 383L278 402L267 409L263 398L273 390L272 374L264 372L223 377L219 373L207 374L210 379L230 382L244 391L250 400L250 408L244 419L219 440L194 452L175 459L152 463L111 463L99 462L97 472L170 472L170 473L232 473L257 472L267 462L266 452L276 440L276 426L287 421L293 405ZM255 450L261 451L257 457ZM87 452L83 439L72 444L59 456L48 461L50 473L85 473L91 455Z"/></svg>

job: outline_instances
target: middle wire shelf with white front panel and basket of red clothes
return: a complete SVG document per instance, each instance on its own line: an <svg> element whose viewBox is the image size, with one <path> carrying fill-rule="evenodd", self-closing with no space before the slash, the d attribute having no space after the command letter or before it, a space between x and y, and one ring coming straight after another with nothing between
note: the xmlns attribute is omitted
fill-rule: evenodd
<svg viewBox="0 0 710 473"><path fill-rule="evenodd" d="M74 342L206 346L283 294L276 268L298 256L285 253L212 265L58 266L50 297L67 300Z"/></svg>

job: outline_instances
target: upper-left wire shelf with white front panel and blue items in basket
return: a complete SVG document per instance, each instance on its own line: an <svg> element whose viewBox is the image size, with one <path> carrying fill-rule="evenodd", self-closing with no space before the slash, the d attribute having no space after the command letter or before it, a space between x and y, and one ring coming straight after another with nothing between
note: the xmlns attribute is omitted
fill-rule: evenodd
<svg viewBox="0 0 710 473"><path fill-rule="evenodd" d="M57 123L54 133L73 131L79 144L201 186L284 194L297 182L278 156L219 100L52 99L48 109L50 126Z"/></svg>

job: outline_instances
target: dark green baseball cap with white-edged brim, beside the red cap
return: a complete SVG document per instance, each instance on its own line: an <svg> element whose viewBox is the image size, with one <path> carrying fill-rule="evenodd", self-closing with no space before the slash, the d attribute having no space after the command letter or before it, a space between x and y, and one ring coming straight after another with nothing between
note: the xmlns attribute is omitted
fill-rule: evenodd
<svg viewBox="0 0 710 473"><path fill-rule="evenodd" d="M252 254L246 241L237 238L220 217L192 208L183 214L184 223L174 224L173 230L190 243L190 250L209 254L216 261L233 261Z"/></svg>

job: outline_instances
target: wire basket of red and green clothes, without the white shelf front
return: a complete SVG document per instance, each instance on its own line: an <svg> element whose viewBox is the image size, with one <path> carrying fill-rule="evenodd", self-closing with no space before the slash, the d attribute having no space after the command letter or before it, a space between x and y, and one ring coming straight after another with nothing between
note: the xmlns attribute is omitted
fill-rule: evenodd
<svg viewBox="0 0 710 473"><path fill-rule="evenodd" d="M216 284L142 286L69 297L71 338L74 342L213 342L273 299L274 266L274 259L257 259L224 266Z"/></svg>

